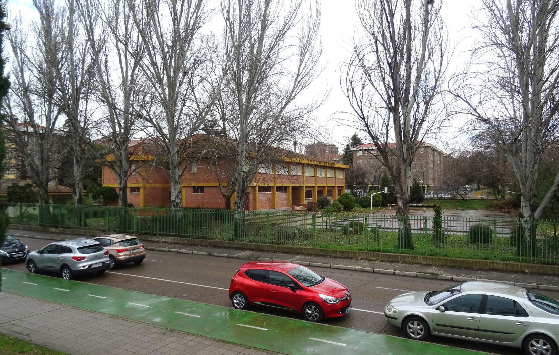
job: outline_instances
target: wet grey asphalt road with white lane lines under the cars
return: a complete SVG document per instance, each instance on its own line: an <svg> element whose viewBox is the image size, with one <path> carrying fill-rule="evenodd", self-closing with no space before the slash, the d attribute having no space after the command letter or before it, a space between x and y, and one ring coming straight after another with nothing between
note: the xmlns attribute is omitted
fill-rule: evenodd
<svg viewBox="0 0 559 355"><path fill-rule="evenodd" d="M32 238L20 239L31 250L40 249L50 242ZM231 306L227 291L231 276L244 262L247 261L148 250L146 259L140 265L126 264L112 271L107 271L101 276L97 274L86 275L78 280L206 304ZM6 264L4 267L26 271L24 263ZM343 283L352 292L354 309L343 318L326 320L328 324L399 337L402 336L400 330L387 325L383 315L384 307L392 297L406 291L434 291L456 284L454 281L372 274L342 269L320 267L312 267L312 269L322 276ZM559 299L559 292L541 291L541 293ZM286 314L267 309L254 310L302 319L301 316L296 314ZM465 340L431 337L429 341L498 354L516 355L523 353L519 349Z"/></svg>

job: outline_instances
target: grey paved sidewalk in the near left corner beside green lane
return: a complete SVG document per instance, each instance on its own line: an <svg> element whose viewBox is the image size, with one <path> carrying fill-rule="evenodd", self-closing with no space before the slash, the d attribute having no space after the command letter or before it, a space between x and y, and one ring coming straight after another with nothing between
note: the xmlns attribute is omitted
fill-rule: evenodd
<svg viewBox="0 0 559 355"><path fill-rule="evenodd" d="M68 354L275 354L8 292L0 314L0 333Z"/></svg>

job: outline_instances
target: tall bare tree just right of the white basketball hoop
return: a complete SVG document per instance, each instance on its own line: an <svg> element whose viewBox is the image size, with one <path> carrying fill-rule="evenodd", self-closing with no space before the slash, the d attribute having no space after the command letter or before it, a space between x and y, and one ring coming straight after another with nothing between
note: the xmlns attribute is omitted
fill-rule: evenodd
<svg viewBox="0 0 559 355"><path fill-rule="evenodd" d="M400 216L409 214L416 150L444 119L435 105L446 72L447 37L440 3L359 0L365 35L345 65L342 85L353 108L352 125L375 144L377 158L394 183ZM405 217L398 229L398 247L413 249Z"/></svg>

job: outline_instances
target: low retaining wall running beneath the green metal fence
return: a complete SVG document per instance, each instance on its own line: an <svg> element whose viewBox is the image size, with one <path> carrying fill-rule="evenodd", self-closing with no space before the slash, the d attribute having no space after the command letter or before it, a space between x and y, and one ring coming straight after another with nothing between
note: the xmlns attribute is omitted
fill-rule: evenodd
<svg viewBox="0 0 559 355"><path fill-rule="evenodd" d="M96 230L50 228L50 227L30 226L30 225L12 224L10 225L10 228L20 229L20 230L42 231L48 233L78 234L78 235L87 235L87 236L98 236L98 235L107 234L106 232L96 231ZM365 252L362 250L324 249L324 248L312 248L312 247L299 247L296 245L228 242L226 240L194 239L194 238L155 236L155 235L144 235L144 234L136 234L136 236L138 236L138 238L143 240L149 240L150 242L159 242L159 243L202 245L206 247L235 248L235 249L252 249L252 250L263 250L266 252L321 255L325 257L337 257L337 258L349 258L349 259L362 258L362 259L371 259L371 260L387 261L387 262L429 264L435 266L460 267L466 269L475 268L475 269L482 269L482 270L526 272L526 273L549 274L549 275L559 276L559 266L547 265L547 264L519 263L519 262L480 260L480 259L460 259L460 258L434 257L434 256L414 255L414 254L378 253L378 252Z"/></svg>

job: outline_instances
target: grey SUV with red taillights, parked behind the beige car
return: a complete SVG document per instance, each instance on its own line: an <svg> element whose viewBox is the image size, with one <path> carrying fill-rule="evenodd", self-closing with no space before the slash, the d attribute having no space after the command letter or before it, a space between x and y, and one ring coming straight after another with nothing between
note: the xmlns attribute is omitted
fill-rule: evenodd
<svg viewBox="0 0 559 355"><path fill-rule="evenodd" d="M65 280L89 272L101 274L110 263L108 251L99 242L85 238L51 243L27 255L27 270L30 273L56 272Z"/></svg>

